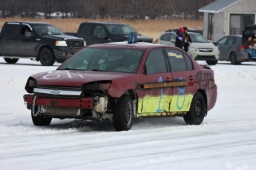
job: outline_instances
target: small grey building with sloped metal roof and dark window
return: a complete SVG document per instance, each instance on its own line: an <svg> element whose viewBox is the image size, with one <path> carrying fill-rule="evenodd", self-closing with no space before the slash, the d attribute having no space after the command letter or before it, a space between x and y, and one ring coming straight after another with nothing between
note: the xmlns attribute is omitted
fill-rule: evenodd
<svg viewBox="0 0 256 170"><path fill-rule="evenodd" d="M256 0L217 0L199 9L204 13L203 35L217 41L225 35L242 34L255 24Z"/></svg>

